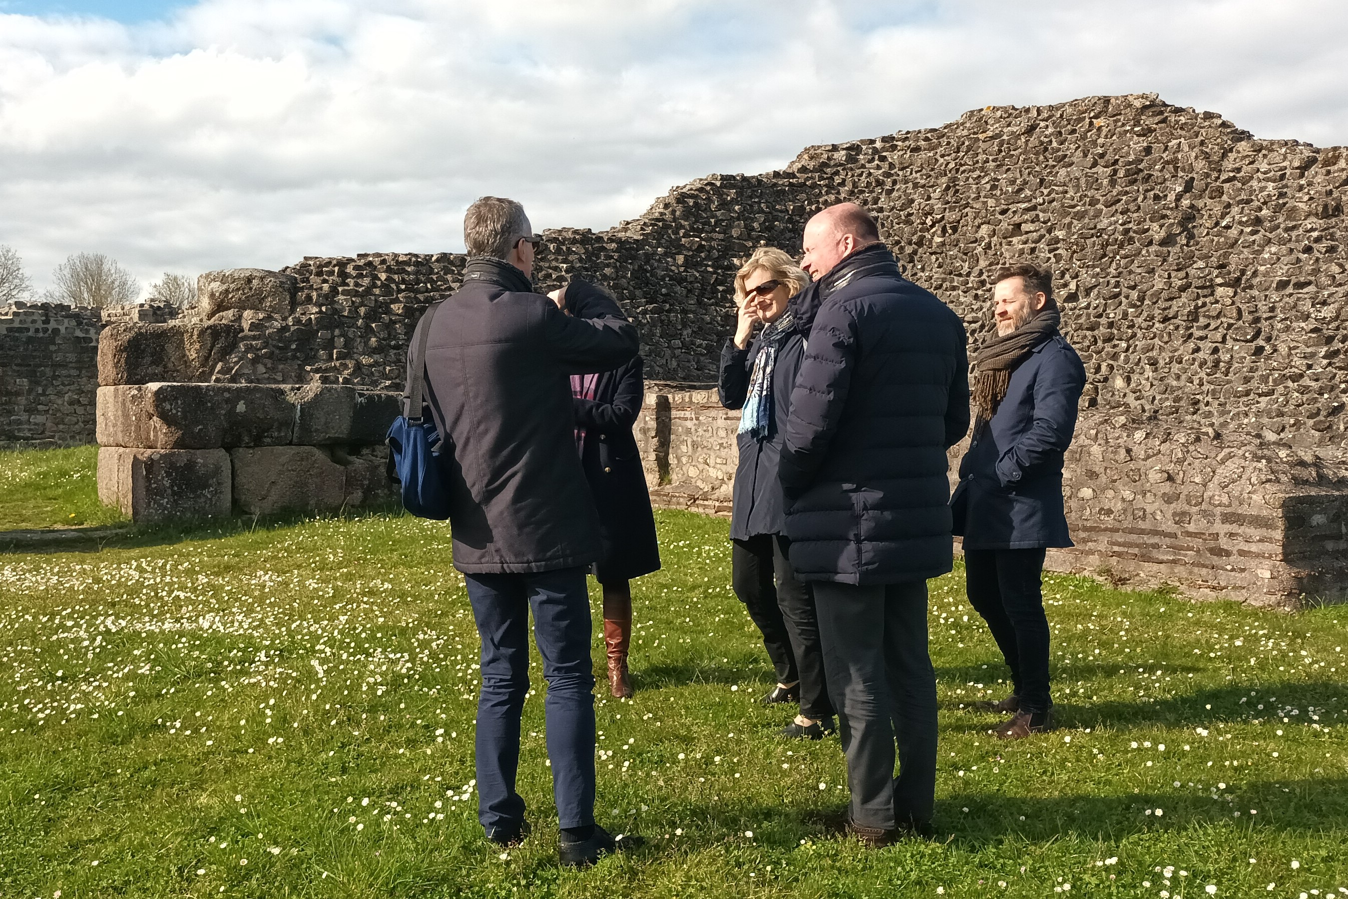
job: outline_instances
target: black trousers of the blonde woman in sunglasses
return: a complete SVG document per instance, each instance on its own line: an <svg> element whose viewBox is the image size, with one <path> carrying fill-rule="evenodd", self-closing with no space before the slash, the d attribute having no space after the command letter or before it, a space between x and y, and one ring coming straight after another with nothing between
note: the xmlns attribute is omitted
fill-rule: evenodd
<svg viewBox="0 0 1348 899"><path fill-rule="evenodd" d="M833 717L814 590L798 581L787 559L790 542L780 534L735 540L731 580L735 594L763 632L778 683L801 682L801 714L814 721Z"/></svg>

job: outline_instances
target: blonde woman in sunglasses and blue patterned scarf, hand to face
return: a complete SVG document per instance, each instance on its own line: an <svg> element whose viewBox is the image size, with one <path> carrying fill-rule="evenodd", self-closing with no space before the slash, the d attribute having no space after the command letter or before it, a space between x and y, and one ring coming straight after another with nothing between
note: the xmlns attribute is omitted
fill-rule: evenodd
<svg viewBox="0 0 1348 899"><path fill-rule="evenodd" d="M735 336L721 350L721 404L737 408L740 461L731 515L732 582L776 673L764 705L798 702L782 736L820 740L833 729L814 593L789 561L776 469L813 303L790 302L809 276L780 249L762 247L735 275ZM798 299L805 299L803 297ZM758 330L758 336L755 336Z"/></svg>

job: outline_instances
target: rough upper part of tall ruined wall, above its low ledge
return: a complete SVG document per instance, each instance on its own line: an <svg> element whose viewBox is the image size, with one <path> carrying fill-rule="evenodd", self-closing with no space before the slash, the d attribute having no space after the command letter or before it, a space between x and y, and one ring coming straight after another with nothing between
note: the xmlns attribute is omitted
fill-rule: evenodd
<svg viewBox="0 0 1348 899"><path fill-rule="evenodd" d="M1254 140L1154 96L999 106L811 147L782 171L702 178L607 232L549 230L537 280L605 282L640 325L652 377L712 380L736 261L763 243L798 249L810 212L855 199L975 340L991 326L998 264L1051 264L1088 407L1329 447L1345 422L1345 182L1339 148ZM294 311L244 322L214 379L396 388L411 326L462 266L452 253L306 259L284 270Z"/></svg>

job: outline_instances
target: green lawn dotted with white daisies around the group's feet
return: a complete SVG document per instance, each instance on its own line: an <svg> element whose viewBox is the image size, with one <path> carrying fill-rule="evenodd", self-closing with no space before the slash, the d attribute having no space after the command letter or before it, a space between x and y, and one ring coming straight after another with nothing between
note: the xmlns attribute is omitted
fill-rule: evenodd
<svg viewBox="0 0 1348 899"><path fill-rule="evenodd" d="M0 454L0 530L42 518L34 493L49 524L97 520L92 458ZM584 872L555 863L537 664L534 836L481 837L479 647L445 526L236 522L0 555L0 896L1348 892L1344 609L1050 577L1064 726L1000 744L965 706L1006 671L962 573L933 581L940 836L871 852L821 824L845 795L837 739L782 741L790 712L758 704L771 673L725 522L658 523L639 691L597 701L600 821L647 844Z"/></svg>

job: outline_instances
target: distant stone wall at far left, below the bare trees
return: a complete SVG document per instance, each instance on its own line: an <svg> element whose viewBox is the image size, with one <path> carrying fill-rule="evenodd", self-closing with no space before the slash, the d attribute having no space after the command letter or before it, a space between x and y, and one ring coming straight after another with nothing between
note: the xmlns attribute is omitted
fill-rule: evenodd
<svg viewBox="0 0 1348 899"><path fill-rule="evenodd" d="M151 305L0 307L0 447L92 443L104 325L166 322L175 315L177 310Z"/></svg>

